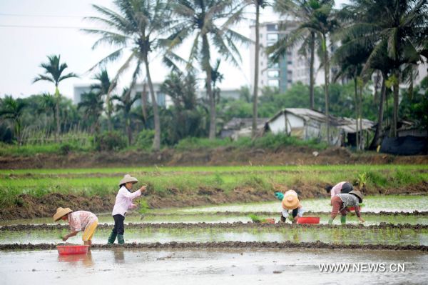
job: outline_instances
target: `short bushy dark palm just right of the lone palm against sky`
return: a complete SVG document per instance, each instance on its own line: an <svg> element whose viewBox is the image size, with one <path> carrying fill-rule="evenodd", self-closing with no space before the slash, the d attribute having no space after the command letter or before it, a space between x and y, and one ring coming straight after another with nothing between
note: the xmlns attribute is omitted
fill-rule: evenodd
<svg viewBox="0 0 428 285"><path fill-rule="evenodd" d="M94 131L99 133L99 118L103 111L103 99L101 93L95 93L89 91L82 94L82 100L77 104L77 109L83 109L85 111L84 116L86 118L92 118L93 124L91 124L91 134Z"/></svg>

